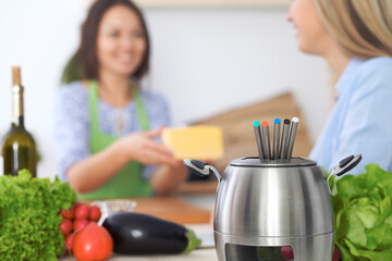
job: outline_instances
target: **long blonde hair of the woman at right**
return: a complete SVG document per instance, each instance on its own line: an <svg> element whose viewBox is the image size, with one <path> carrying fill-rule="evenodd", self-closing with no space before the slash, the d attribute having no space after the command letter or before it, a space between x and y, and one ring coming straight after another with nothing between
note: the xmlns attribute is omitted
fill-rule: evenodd
<svg viewBox="0 0 392 261"><path fill-rule="evenodd" d="M328 32L350 57L392 57L392 0L314 0Z"/></svg>

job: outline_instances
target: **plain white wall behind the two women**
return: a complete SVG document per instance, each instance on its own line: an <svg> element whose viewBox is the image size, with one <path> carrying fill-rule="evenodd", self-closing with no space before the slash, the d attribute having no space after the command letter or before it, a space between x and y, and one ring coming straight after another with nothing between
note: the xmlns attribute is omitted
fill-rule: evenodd
<svg viewBox="0 0 392 261"><path fill-rule="evenodd" d="M149 9L149 88L164 92L174 123L210 116L291 90L311 139L329 113L327 64L296 50L283 9ZM56 174L52 97L76 49L78 0L0 0L0 133L9 128L11 66L22 66L26 127L42 153L39 176ZM54 126L61 127L61 126ZM2 173L2 167L0 174Z"/></svg>

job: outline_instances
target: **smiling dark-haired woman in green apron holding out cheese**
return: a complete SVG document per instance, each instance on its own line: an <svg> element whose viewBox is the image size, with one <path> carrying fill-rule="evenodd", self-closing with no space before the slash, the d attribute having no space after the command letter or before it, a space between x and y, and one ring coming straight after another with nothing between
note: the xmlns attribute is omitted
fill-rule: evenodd
<svg viewBox="0 0 392 261"><path fill-rule="evenodd" d="M59 172L81 199L167 194L186 177L159 142L170 125L167 101L140 88L149 54L146 23L134 3L94 3L65 69L71 75L76 66L82 77L62 87L57 102Z"/></svg>

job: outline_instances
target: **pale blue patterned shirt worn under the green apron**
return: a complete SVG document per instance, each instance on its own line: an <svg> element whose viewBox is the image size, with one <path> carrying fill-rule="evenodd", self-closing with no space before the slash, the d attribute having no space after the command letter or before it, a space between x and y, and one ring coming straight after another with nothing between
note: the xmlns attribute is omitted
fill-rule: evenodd
<svg viewBox="0 0 392 261"><path fill-rule="evenodd" d="M170 126L169 107L161 95L142 89L140 99L148 116L150 129ZM71 83L59 90L54 114L57 171L60 179L66 182L66 170L90 156L88 92L81 82ZM123 124L121 129L117 127L119 117ZM98 122L102 133L117 137L142 132L134 101L123 108L113 108L99 99ZM155 170L155 165L146 166L144 176L150 178Z"/></svg>

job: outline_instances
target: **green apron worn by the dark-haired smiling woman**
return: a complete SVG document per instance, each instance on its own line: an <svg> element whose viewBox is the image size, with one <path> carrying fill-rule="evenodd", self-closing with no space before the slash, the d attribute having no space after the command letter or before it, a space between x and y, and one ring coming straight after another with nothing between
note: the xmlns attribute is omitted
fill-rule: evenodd
<svg viewBox="0 0 392 261"><path fill-rule="evenodd" d="M148 117L143 107L138 91L134 92L136 111L143 130L148 130ZM97 83L88 83L88 108L90 115L90 152L97 153L112 142L118 137L103 134L98 124L98 89ZM110 164L110 163L108 163ZM143 177L143 165L139 162L132 161L118 172L109 182L100 188L85 194L78 194L81 200L108 199L108 198L128 198L128 197L148 197L152 195L152 188L146 178Z"/></svg>

